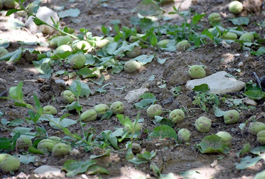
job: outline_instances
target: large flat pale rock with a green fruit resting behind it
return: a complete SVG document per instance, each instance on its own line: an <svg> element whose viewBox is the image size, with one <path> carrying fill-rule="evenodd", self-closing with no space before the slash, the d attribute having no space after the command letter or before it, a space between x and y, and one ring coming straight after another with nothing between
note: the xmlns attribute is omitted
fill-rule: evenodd
<svg viewBox="0 0 265 179"><path fill-rule="evenodd" d="M225 71L219 71L204 78L187 81L186 88L192 91L194 86L206 83L210 87L210 90L207 92L213 94L238 92L244 88L245 83L243 81L236 80L233 77L227 77L225 76L226 74L228 73Z"/></svg>

